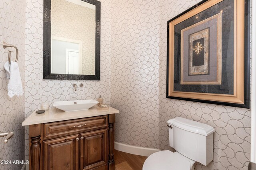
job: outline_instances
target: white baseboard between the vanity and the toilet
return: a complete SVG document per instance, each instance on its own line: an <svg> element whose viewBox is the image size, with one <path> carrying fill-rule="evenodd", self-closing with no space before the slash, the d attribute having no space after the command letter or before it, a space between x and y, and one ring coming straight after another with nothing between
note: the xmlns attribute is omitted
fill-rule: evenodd
<svg viewBox="0 0 256 170"><path fill-rule="evenodd" d="M141 155L141 156L149 156L155 152L160 151L159 149L152 149L152 148L143 148L143 147L134 147L131 145L125 145L122 143L115 142L115 149L130 153L130 154L136 154L136 155Z"/></svg>

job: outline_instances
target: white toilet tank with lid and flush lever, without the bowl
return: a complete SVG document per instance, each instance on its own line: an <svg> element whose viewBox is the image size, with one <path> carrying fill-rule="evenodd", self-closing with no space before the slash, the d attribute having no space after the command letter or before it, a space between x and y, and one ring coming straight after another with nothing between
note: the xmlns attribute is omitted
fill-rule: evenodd
<svg viewBox="0 0 256 170"><path fill-rule="evenodd" d="M203 165L213 158L213 133L210 125L175 117L167 121L170 146L177 152Z"/></svg>

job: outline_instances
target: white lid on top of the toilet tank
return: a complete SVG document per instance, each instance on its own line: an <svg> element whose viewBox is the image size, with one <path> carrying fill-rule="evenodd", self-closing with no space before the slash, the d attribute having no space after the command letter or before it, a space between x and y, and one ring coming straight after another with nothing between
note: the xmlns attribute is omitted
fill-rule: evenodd
<svg viewBox="0 0 256 170"><path fill-rule="evenodd" d="M180 129L190 131L193 133L198 133L198 134L204 135L204 136L208 136L208 135L214 133L214 131L215 131L213 129L213 127L211 127L210 125L200 123L198 121L193 121L190 119L185 119L182 117L175 117L173 119L168 120L167 123L169 123L175 127L178 127Z"/></svg>

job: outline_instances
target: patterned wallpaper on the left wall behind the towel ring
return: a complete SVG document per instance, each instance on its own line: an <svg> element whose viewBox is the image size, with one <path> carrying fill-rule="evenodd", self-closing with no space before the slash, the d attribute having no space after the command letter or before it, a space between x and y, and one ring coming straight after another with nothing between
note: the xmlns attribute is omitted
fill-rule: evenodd
<svg viewBox="0 0 256 170"><path fill-rule="evenodd" d="M18 65L23 87L25 86L25 2L23 0L2 0L0 2L0 132L13 131L14 136L5 144L0 138L0 160L24 160L24 95L10 98L4 63L8 60L8 50L15 60L13 48L4 49L2 42L16 45L19 50ZM0 170L20 170L22 164L0 164Z"/></svg>

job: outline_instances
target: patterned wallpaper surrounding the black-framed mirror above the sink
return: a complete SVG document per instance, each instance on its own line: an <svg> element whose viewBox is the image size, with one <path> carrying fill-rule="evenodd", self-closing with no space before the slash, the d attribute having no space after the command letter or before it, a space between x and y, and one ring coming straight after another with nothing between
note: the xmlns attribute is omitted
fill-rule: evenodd
<svg viewBox="0 0 256 170"><path fill-rule="evenodd" d="M100 81L43 80L43 0L26 0L26 72L25 114L40 109L42 102L52 106L55 101L96 99L99 95L110 104L110 7L101 1ZM74 91L72 84L80 83ZM25 134L25 158L28 160L28 127Z"/></svg>

